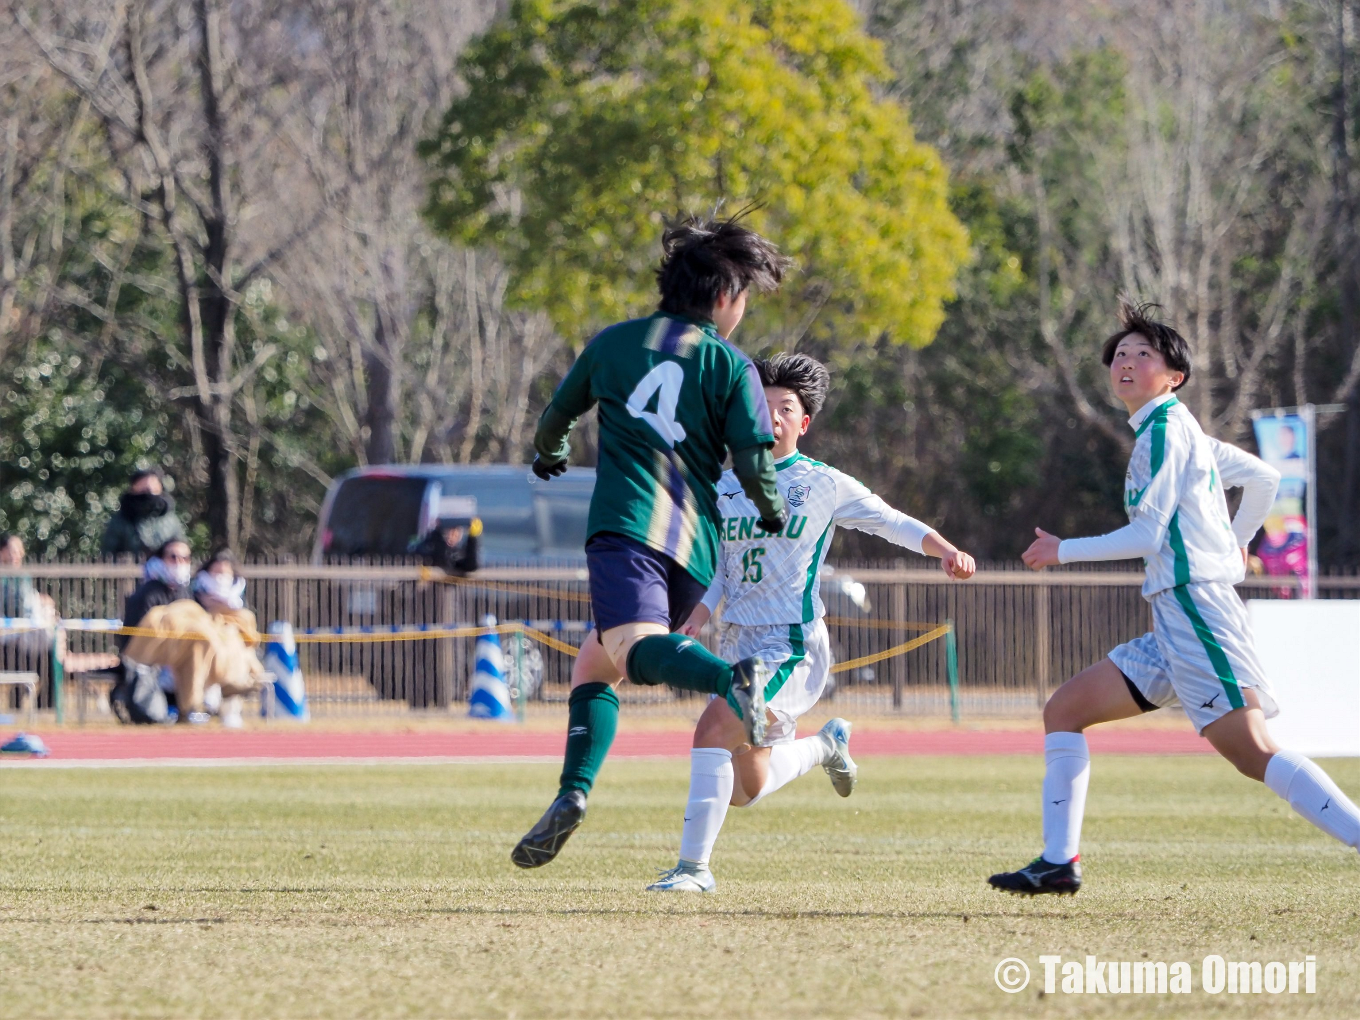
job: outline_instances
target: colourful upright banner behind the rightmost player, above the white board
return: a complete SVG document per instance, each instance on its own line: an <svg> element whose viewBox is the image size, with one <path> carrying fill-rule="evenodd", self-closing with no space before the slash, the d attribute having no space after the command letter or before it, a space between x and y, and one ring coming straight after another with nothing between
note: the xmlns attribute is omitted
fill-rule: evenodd
<svg viewBox="0 0 1360 1020"><path fill-rule="evenodd" d="M1303 598L1312 597L1318 573L1315 420L1311 407L1253 415L1261 460L1280 472L1280 491L1255 555L1266 574L1299 578L1297 593Z"/></svg>

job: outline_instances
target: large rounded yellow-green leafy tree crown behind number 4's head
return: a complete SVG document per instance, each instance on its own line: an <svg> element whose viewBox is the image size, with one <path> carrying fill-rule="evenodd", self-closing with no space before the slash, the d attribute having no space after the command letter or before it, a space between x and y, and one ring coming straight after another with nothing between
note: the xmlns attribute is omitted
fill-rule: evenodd
<svg viewBox="0 0 1360 1020"><path fill-rule="evenodd" d="M967 238L842 0L517 0L424 144L428 215L579 337L654 303L662 216L756 204L801 265L755 330L929 343ZM820 311L820 314L817 314Z"/></svg>

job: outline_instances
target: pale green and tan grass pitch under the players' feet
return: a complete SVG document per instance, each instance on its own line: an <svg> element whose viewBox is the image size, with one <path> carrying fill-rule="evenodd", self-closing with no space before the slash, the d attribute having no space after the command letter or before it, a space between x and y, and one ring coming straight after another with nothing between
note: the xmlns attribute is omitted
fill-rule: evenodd
<svg viewBox="0 0 1360 1020"><path fill-rule="evenodd" d="M7 770L0 1016L1360 1015L1360 860L1217 759L1098 759L1087 888L989 889L1038 851L1040 767L868 760L849 801L817 771L729 815L710 896L642 892L679 760L608 767L532 873L507 854L547 766ZM1040 996L1042 953L1186 960L1195 990ZM1314 953L1318 991L1208 994L1206 953Z"/></svg>

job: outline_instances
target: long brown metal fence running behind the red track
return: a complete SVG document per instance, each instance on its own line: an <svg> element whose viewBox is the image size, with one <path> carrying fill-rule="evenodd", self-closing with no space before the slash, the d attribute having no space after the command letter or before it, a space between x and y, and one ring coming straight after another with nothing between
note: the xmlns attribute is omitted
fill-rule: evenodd
<svg viewBox="0 0 1360 1020"><path fill-rule="evenodd" d="M471 639L360 641L309 635L313 630L389 626L475 626L484 617L528 626L579 646L590 607L583 570L571 567L490 568L473 578L446 578L409 564L305 566L250 563L246 597L261 628L290 622L302 636L301 665L314 714L458 709L468 698ZM33 564L0 570L27 575L50 594L63 617L117 617L135 588L131 564ZM930 627L952 622L957 642L957 706L963 714L1034 711L1072 673L1114 645L1144 632L1148 607L1137 571L1055 570L1035 574L1017 564L985 567L968 582L902 563L839 563L823 582L828 630L838 662L870 657ZM1281 579L1248 579L1244 598L1295 594ZM1331 598L1360 597L1360 578L1319 583ZM710 639L713 635L706 635ZM71 653L109 651L112 636L69 632ZM12 634L0 642L4 669L38 672L39 707L52 703L49 635ZM568 654L532 646L541 660L541 702L564 702ZM669 688L624 685L631 710L675 710L694 695ZM0 696L4 696L0 694ZM932 641L911 651L840 672L828 692L861 714L944 714L951 710L947 647Z"/></svg>

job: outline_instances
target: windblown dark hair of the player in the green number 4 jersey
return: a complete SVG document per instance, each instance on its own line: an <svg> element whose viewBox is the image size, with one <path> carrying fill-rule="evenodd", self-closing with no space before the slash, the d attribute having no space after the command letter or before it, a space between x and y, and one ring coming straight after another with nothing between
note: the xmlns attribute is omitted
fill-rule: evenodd
<svg viewBox="0 0 1360 1020"><path fill-rule="evenodd" d="M793 260L740 219L685 216L666 224L657 267L662 311L706 320L719 295L734 298L751 287L766 294L778 290Z"/></svg>

